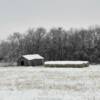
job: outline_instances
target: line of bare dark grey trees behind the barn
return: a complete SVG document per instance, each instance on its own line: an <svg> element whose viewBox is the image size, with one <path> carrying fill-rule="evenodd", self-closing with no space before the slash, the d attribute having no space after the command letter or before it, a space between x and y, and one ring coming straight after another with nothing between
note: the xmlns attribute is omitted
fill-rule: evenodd
<svg viewBox="0 0 100 100"><path fill-rule="evenodd" d="M17 61L21 55L40 54L45 60L100 62L100 27L88 29L45 28L15 32L0 43L0 59Z"/></svg>

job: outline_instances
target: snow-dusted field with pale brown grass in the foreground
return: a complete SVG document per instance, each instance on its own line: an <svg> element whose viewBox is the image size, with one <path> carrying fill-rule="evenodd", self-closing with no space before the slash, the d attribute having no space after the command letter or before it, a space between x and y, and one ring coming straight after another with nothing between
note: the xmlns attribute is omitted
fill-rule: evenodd
<svg viewBox="0 0 100 100"><path fill-rule="evenodd" d="M100 100L100 65L0 67L0 100Z"/></svg>

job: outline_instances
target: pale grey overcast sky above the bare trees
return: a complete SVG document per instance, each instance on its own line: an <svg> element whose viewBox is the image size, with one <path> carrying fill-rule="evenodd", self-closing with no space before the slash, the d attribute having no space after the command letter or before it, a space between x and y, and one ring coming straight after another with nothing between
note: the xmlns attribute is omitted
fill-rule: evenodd
<svg viewBox="0 0 100 100"><path fill-rule="evenodd" d="M0 0L0 39L28 28L100 25L100 0Z"/></svg>

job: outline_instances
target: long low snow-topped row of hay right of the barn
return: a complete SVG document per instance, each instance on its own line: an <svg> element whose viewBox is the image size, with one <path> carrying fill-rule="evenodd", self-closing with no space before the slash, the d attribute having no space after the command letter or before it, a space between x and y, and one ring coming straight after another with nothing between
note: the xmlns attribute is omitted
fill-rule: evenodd
<svg viewBox="0 0 100 100"><path fill-rule="evenodd" d="M46 61L44 63L45 67L88 67L88 61Z"/></svg>

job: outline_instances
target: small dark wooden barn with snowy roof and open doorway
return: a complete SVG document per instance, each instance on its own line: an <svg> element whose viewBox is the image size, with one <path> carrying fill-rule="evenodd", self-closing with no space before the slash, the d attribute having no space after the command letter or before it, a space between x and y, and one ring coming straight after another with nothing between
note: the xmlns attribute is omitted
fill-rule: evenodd
<svg viewBox="0 0 100 100"><path fill-rule="evenodd" d="M22 55L18 61L18 66L38 66L43 65L44 57L39 54Z"/></svg>

